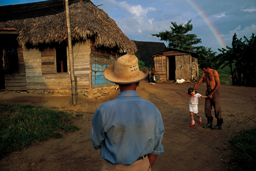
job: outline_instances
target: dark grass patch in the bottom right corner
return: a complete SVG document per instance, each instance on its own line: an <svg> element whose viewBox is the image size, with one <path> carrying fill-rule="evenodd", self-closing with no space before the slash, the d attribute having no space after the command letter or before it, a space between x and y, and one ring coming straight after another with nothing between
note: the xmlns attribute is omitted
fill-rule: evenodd
<svg viewBox="0 0 256 171"><path fill-rule="evenodd" d="M256 127L241 130L231 140L231 157L242 171L256 170Z"/></svg>

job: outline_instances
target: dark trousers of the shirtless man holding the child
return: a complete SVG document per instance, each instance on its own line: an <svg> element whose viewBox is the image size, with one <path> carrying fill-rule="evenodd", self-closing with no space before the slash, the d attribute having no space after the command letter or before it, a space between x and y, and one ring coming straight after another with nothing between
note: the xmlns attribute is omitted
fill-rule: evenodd
<svg viewBox="0 0 256 171"><path fill-rule="evenodd" d="M210 90L206 90L205 96L210 94ZM221 119L221 96L219 90L217 90L212 98L205 99L204 112L206 117L211 117L211 109L214 106L215 118Z"/></svg>

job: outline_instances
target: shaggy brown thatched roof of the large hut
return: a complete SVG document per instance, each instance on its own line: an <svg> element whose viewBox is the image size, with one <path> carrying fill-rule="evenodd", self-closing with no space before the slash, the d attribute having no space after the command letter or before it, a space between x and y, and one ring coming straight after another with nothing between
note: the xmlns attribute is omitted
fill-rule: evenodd
<svg viewBox="0 0 256 171"><path fill-rule="evenodd" d="M53 2L53 0L46 2ZM62 5L62 8L64 9L65 7ZM36 9L28 10L29 13L31 11L36 12ZM107 13L94 4L90 2L76 2L70 5L69 11L71 36L73 39L86 40L93 38L95 39L96 47L118 47L119 52L123 52L124 50L136 51L134 42L126 37L116 22ZM0 15L0 17L2 16ZM47 13L46 16L1 22L0 27L17 29L19 44L24 43L38 46L39 44L51 44L52 42L67 40L65 18L65 12L54 15L48 15Z"/></svg>

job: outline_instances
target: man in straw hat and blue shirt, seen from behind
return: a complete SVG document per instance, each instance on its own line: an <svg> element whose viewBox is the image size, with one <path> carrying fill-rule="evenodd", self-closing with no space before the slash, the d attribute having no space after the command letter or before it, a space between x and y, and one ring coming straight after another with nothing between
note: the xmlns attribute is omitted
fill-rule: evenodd
<svg viewBox="0 0 256 171"><path fill-rule="evenodd" d="M123 55L106 68L104 77L120 87L115 100L99 106L90 138L105 160L101 170L151 170L163 153L164 126L156 106L136 92L148 70L139 71L135 55Z"/></svg>

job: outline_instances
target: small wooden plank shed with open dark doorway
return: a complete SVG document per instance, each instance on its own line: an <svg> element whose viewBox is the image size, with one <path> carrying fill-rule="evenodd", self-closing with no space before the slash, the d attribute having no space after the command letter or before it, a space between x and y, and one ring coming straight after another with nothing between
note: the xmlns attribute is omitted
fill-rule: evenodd
<svg viewBox="0 0 256 171"><path fill-rule="evenodd" d="M198 58L195 52L167 48L152 55L156 75L162 80L184 79L185 82L198 80Z"/></svg>

